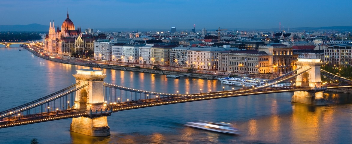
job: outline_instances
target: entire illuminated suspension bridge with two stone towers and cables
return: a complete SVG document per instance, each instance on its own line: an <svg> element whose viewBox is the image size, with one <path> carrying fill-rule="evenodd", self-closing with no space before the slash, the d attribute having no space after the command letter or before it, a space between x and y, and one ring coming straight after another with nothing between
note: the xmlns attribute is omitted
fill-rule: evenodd
<svg viewBox="0 0 352 144"><path fill-rule="evenodd" d="M352 80L321 70L319 59L298 59L297 69L265 83L238 90L194 94L162 93L104 83L106 75L99 70L77 70L76 83L48 96L0 112L0 128L72 118L70 130L89 136L108 136L107 116L112 113L144 107L194 102L256 94L294 92L291 102L326 105L322 92L352 87ZM344 81L326 84L321 75ZM294 86L271 87L296 78Z"/></svg>

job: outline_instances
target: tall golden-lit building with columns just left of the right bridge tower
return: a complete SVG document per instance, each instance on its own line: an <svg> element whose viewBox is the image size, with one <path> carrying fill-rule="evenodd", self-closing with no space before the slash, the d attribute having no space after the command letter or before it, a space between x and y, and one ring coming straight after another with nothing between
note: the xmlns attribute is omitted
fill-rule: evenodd
<svg viewBox="0 0 352 144"><path fill-rule="evenodd" d="M296 68L295 60L297 60L298 55L293 54L292 46L271 43L266 46L259 46L258 51L269 54L268 67L272 67L272 73L285 74Z"/></svg>

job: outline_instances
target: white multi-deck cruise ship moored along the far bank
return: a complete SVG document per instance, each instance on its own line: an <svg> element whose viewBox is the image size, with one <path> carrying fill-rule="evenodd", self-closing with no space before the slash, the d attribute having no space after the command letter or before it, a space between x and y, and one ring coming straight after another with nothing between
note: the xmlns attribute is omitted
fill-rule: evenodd
<svg viewBox="0 0 352 144"><path fill-rule="evenodd" d="M249 77L225 77L225 78L218 78L221 84L228 84L228 85L235 85L235 86L254 86L261 83L265 83L269 81L268 79L260 79L260 78L249 78ZM272 83L268 83L272 84ZM272 85L271 87L279 87L279 86L291 86L291 83L277 83Z"/></svg>

